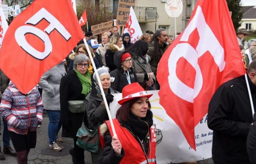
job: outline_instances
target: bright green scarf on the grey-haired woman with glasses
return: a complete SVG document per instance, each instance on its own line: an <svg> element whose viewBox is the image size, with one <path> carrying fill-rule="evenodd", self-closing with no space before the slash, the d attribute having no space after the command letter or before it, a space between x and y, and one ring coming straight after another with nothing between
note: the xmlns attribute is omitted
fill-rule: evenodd
<svg viewBox="0 0 256 164"><path fill-rule="evenodd" d="M87 70L86 73L84 74L84 76L78 71L75 70L76 75L78 76L80 82L82 83L82 94L87 95L90 91L91 91L91 74L90 72Z"/></svg>

